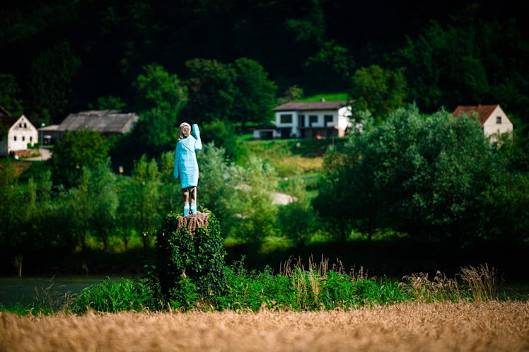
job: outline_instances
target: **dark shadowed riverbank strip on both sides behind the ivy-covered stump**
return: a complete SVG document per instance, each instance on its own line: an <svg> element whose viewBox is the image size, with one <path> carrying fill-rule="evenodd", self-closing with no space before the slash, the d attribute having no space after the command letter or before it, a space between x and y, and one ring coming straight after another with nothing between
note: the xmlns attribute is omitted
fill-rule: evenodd
<svg viewBox="0 0 529 352"><path fill-rule="evenodd" d="M262 271L269 266L279 272L286 262L308 263L327 260L345 271L362 269L370 276L402 277L441 271L453 276L463 266L488 264L507 281L529 282L529 245L489 243L455 247L448 243L411 240L313 242L305 246L268 244L226 244L226 265L243 260L248 270ZM125 252L85 250L67 253L60 250L23 253L23 276L110 275L141 276L146 265L156 263L154 248ZM13 254L0 252L0 276L16 276Z"/></svg>

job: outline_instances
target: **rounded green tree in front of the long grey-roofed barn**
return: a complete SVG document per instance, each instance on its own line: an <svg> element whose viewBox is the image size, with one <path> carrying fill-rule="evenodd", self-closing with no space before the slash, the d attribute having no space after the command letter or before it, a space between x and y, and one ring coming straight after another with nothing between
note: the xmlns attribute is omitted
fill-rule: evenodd
<svg viewBox="0 0 529 352"><path fill-rule="evenodd" d="M97 131L81 128L66 131L53 149L52 170L55 184L74 186L83 166L97 168L108 156L109 143Z"/></svg>

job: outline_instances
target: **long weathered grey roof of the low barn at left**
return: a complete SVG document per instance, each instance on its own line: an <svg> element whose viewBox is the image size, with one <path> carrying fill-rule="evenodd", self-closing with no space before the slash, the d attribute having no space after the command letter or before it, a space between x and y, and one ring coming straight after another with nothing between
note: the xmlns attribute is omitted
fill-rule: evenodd
<svg viewBox="0 0 529 352"><path fill-rule="evenodd" d="M91 110L70 114L64 119L57 131L76 131L88 127L92 131L107 134L124 134L130 131L139 119L133 112L124 113L120 110Z"/></svg>

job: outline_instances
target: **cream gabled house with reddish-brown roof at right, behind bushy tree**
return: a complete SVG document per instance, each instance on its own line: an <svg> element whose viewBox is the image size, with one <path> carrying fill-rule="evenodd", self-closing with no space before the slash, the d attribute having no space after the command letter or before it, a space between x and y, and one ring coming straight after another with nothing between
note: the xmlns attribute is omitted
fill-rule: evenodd
<svg viewBox="0 0 529 352"><path fill-rule="evenodd" d="M513 123L508 119L504 110L499 104L496 105L460 105L452 112L453 117L459 115L476 114L485 136L491 136L494 141L495 136L513 131Z"/></svg>

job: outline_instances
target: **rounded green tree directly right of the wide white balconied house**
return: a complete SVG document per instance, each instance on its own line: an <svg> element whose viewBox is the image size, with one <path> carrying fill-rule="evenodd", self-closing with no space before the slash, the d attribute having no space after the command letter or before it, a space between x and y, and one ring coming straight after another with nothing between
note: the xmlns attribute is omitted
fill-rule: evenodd
<svg viewBox="0 0 529 352"><path fill-rule="evenodd" d="M380 122L383 118L401 107L406 98L406 78L402 71L390 71L372 65L357 70L352 78L349 96L353 100L353 110L369 110Z"/></svg>

